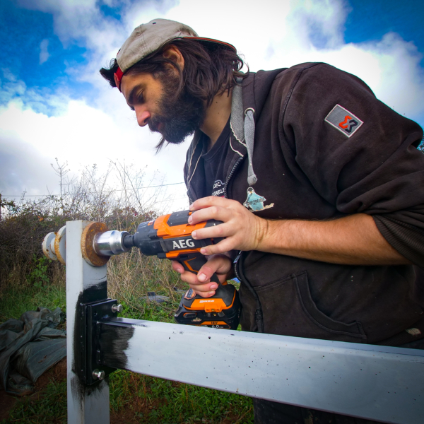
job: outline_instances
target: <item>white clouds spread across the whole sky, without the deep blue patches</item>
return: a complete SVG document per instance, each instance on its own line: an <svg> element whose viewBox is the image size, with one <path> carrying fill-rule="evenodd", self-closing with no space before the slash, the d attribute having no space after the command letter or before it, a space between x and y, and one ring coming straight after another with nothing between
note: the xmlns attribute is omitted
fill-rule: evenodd
<svg viewBox="0 0 424 424"><path fill-rule="evenodd" d="M4 155L8 162L16 160L21 177L34 176L26 177L19 187L26 184L28 190L33 187L43 191L47 182L56 184L45 171L54 176L49 164L55 157L68 160L72 170L93 163L105 169L108 159L125 160L140 168L148 165L152 174L154 170L166 172L167 183L182 181L188 143L168 146L155 155L158 137L136 125L134 113L129 111L122 94L110 88L98 73L115 57L136 25L153 18L179 20L201 36L230 42L244 55L252 71L324 61L362 78L378 98L397 112L413 119L424 117L423 69L416 47L393 33L376 42L345 44L343 25L348 6L343 0L103 3L119 6L122 19L102 16L97 0L20 0L25 7L52 13L54 31L64 45L77 42L87 47L88 64L68 71L91 83L98 95L83 101L71 100L63 88L56 93L28 90L22 81L3 70L0 100L11 102L0 109L0 158ZM47 47L46 42L48 54ZM40 54L40 62L41 59ZM25 106L22 101L13 100L17 96L25 99ZM56 116L48 116L49 107L54 108ZM31 166L25 165L24 158ZM46 183L42 183L43 179ZM13 183L11 178L8 181ZM2 184L3 180L0 190L4 191ZM184 196L182 186L175 190Z"/></svg>

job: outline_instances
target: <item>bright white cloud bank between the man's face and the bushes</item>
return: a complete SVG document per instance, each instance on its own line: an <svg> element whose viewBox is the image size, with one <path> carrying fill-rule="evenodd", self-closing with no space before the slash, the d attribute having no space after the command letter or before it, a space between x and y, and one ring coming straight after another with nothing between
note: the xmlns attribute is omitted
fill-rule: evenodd
<svg viewBox="0 0 424 424"><path fill-rule="evenodd" d="M128 109L128 107L126 107ZM24 107L15 100L0 109L0 165L6 178L0 192L20 194L57 194L57 177L51 163L59 158L68 162L72 172L97 164L100 172L110 168L110 160L146 168L146 184L159 171L165 184L182 182L184 149L170 146L167 155L153 155L158 137L140 129L128 109L115 109L109 115L85 102L69 100L63 113L49 117ZM124 121L124 122L122 122ZM16 177L18 175L18 177ZM112 181L113 184L113 181ZM187 207L184 184L172 187L175 208Z"/></svg>

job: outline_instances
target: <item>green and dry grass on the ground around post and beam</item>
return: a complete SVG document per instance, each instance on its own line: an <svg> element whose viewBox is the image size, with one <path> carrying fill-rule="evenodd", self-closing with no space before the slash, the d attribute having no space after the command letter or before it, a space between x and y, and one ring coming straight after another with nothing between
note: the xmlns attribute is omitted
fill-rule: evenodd
<svg viewBox="0 0 424 424"><path fill-rule="evenodd" d="M173 322L181 296L173 290L174 286L185 288L171 271L169 261L146 259L134 252L114 257L108 265L109 296L124 306L124 317ZM141 300L148 291L167 295L170 301L158 304ZM63 270L40 287L25 282L2 290L0 322L18 319L23 312L38 306L51 310L59 306L66 311ZM245 396L125 370L110 375L110 413L112 424L253 423L252 400ZM0 424L12 423L66 423L66 379L50 382L37 395L19 398L9 418Z"/></svg>

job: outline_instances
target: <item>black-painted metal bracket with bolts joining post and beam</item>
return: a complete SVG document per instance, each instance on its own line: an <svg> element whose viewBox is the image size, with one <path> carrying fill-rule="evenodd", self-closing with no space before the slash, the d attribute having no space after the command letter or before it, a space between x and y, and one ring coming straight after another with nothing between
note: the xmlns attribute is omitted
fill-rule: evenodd
<svg viewBox="0 0 424 424"><path fill-rule="evenodd" d="M86 310L86 366L83 367L85 383L95 384L107 375L114 372L116 368L100 365L100 326L104 322L110 322L117 318L117 301L113 299L101 302L88 303Z"/></svg>

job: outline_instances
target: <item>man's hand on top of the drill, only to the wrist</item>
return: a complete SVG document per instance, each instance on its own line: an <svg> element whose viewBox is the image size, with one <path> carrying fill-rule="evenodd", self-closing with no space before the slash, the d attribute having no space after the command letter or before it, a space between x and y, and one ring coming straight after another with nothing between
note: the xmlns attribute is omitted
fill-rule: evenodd
<svg viewBox="0 0 424 424"><path fill-rule="evenodd" d="M217 254L230 250L257 250L266 233L268 221L249 212L238 201L223 197L208 196L196 200L191 206L195 211L189 217L189 223L194 225L208 219L223 221L216 227L202 228L192 232L194 240L226 237L217 245L201 249L202 254Z"/></svg>

